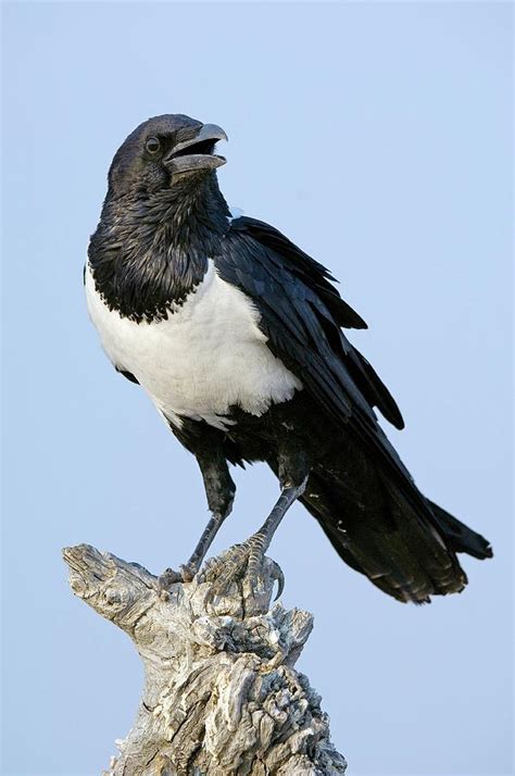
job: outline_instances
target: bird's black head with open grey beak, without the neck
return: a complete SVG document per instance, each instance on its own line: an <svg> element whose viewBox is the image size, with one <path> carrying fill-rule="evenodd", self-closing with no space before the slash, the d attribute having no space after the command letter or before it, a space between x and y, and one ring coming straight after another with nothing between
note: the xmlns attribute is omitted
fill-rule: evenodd
<svg viewBox="0 0 515 776"><path fill-rule="evenodd" d="M213 153L217 140L227 140L227 135L216 124L202 124L180 113L149 118L114 155L109 171L111 196L152 193L185 177L204 178L225 164L224 157Z"/></svg>

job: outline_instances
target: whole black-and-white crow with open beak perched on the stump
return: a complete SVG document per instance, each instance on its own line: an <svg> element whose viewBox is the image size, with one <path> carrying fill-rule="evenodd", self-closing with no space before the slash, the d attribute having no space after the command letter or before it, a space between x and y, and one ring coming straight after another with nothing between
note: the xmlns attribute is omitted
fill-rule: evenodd
<svg viewBox="0 0 515 776"><path fill-rule="evenodd" d="M184 114L154 116L128 135L84 272L112 365L146 391L202 475L209 523L165 584L204 573L233 508L229 465L264 462L279 497L229 562L211 561L218 591L242 570L256 584L297 500L340 558L394 599L462 591L457 554L490 558L490 543L418 490L379 425L377 413L398 429L404 423L344 334L367 326L329 271L227 205L223 140L219 126Z"/></svg>

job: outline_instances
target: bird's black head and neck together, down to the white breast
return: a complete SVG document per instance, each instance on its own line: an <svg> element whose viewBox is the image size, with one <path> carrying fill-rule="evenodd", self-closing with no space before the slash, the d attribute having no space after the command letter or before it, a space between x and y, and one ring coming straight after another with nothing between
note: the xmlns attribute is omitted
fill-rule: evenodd
<svg viewBox="0 0 515 776"><path fill-rule="evenodd" d="M215 124L180 114L149 118L124 141L88 256L97 290L136 322L167 317L203 278L230 223L214 154Z"/></svg>

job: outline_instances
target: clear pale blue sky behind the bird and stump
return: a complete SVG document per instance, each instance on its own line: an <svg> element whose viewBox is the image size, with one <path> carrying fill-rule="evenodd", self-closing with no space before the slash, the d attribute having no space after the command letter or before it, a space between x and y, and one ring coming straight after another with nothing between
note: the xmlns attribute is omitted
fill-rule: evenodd
<svg viewBox="0 0 515 776"><path fill-rule="evenodd" d="M511 760L507 3L3 5L3 774L97 774L141 689L130 641L74 599L61 548L160 573L204 524L197 464L111 368L81 270L108 166L147 117L229 136L228 201L341 280L399 400L418 485L492 541L462 596L406 606L297 506L271 549L315 614L299 667L350 774L507 774ZM215 551L277 486L237 472Z"/></svg>

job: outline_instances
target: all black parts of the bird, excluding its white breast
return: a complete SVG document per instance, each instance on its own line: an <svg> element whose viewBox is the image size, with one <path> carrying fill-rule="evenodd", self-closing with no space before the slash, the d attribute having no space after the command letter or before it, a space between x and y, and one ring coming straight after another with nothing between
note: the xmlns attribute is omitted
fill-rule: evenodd
<svg viewBox="0 0 515 776"><path fill-rule="evenodd" d="M462 590L466 576L456 553L487 558L489 543L420 493L377 423L373 408L403 427L390 392L341 330L366 324L328 271L272 226L229 217L214 172L225 161L214 154L222 136L219 127L186 116L140 125L113 160L89 249L103 304L140 327L176 315L212 262L217 277L259 312L266 347L302 384L260 414L228 406L218 427L193 412L179 423L168 418L197 456L213 514L183 575L198 571L230 511L227 462L265 461L282 501L243 546L243 560L255 563L300 498L340 556L385 592L422 602ZM158 138L158 157L149 138ZM130 363L115 366L145 386L145 374L134 374Z"/></svg>

